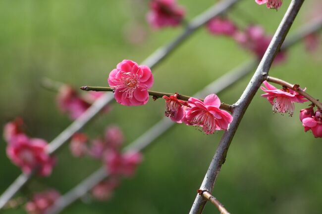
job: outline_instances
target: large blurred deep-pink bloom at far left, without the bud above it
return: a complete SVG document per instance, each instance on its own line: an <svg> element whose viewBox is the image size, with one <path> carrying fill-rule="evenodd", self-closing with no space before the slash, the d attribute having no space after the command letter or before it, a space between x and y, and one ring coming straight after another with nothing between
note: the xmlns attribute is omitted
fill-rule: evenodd
<svg viewBox="0 0 322 214"><path fill-rule="evenodd" d="M8 143L6 153L24 173L30 173L37 168L40 175L48 176L52 173L54 159L46 153L47 145L43 139L18 134Z"/></svg>

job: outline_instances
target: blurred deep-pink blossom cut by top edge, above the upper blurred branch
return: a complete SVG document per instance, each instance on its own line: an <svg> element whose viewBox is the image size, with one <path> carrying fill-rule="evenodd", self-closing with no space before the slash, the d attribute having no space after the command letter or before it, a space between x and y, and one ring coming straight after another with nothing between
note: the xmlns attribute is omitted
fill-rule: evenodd
<svg viewBox="0 0 322 214"><path fill-rule="evenodd" d="M154 28L175 27L182 22L185 13L175 0L152 0L150 9L147 20Z"/></svg>

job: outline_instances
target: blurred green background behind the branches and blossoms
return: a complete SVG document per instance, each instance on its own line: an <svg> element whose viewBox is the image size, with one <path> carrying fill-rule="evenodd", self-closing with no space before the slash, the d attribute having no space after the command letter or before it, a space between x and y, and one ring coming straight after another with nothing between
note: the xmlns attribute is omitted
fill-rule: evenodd
<svg viewBox="0 0 322 214"><path fill-rule="evenodd" d="M304 3L289 35L312 18L314 1ZM228 12L240 26L250 20L269 34L277 28L290 0L276 12L244 0ZM178 0L187 20L214 0ZM71 120L61 114L56 93L41 86L45 77L79 86L107 86L108 73L123 59L142 62L183 28L153 30L146 21L147 0L1 0L0 1L0 125L20 116L32 137L51 141ZM241 11L247 13L242 17ZM321 11L322 12L322 11ZM238 15L239 14L239 15ZM320 41L321 36L320 36ZM192 95L253 54L233 40L213 36L202 28L153 69L152 90ZM313 53L303 43L292 46L287 60L270 75L321 93L322 45ZM252 74L219 94L234 103ZM296 104L293 117L273 114L259 91L232 141L213 195L233 214L322 214L322 140L305 133ZM164 102L126 107L116 103L83 131L102 135L108 125L119 126L129 144L164 117ZM196 196L222 131L206 135L176 124L144 152L136 175L124 179L106 202L85 197L63 214L185 214ZM74 158L66 145L56 153L57 165L47 178L36 177L18 196L47 188L65 193L101 166L91 158ZM21 173L5 154L0 139L0 193ZM175 194L174 194L175 193ZM1 214L23 214L23 206ZM205 214L218 213L208 204Z"/></svg>

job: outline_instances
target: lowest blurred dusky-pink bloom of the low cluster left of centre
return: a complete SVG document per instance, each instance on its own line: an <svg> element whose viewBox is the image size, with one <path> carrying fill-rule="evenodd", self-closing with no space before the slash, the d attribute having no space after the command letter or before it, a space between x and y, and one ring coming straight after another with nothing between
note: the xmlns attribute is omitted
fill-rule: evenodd
<svg viewBox="0 0 322 214"><path fill-rule="evenodd" d="M116 178L104 180L93 187L92 195L100 201L108 200L112 196L113 190L119 186L119 183Z"/></svg>

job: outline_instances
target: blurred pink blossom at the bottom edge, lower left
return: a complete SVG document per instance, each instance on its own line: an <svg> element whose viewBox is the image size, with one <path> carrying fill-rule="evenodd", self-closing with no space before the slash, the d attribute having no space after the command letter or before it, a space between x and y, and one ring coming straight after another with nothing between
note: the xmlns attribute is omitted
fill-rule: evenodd
<svg viewBox="0 0 322 214"><path fill-rule="evenodd" d="M25 210L28 214L45 214L59 197L59 192L54 189L37 193L27 202Z"/></svg>

